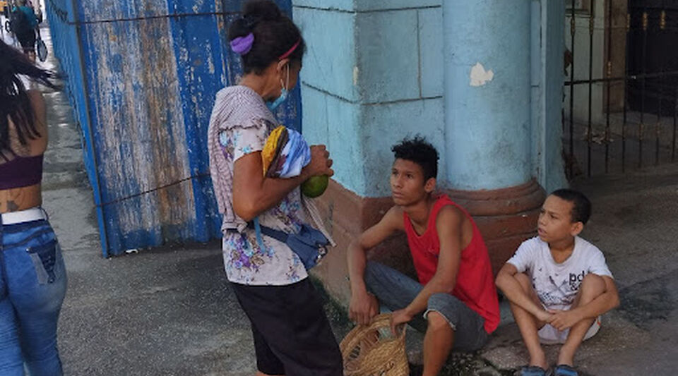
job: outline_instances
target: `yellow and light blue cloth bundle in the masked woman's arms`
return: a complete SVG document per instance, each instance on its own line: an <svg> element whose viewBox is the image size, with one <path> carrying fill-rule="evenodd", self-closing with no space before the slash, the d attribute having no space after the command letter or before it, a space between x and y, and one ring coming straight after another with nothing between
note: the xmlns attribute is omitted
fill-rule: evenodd
<svg viewBox="0 0 678 376"><path fill-rule="evenodd" d="M268 135L261 151L263 176L293 178L311 162L311 148L301 133L279 126Z"/></svg>

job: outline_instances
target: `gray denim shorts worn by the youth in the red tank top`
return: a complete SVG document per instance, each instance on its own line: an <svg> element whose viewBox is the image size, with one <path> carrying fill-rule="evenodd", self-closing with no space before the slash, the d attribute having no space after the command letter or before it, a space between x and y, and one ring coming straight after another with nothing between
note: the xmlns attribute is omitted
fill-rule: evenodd
<svg viewBox="0 0 678 376"><path fill-rule="evenodd" d="M379 262L367 262L364 279L367 291L392 311L407 307L424 288L414 279ZM454 330L454 350L476 351L487 343L489 334L484 329L484 318L448 293L434 293L424 314L413 318L410 326L425 332L426 315L431 311L441 314L450 323Z"/></svg>

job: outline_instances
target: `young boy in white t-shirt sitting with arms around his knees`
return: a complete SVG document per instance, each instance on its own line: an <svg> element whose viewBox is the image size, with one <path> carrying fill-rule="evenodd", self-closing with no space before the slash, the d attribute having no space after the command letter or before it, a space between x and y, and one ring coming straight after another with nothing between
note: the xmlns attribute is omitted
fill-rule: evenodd
<svg viewBox="0 0 678 376"><path fill-rule="evenodd" d="M555 376L577 376L577 348L600 329L600 315L619 305L605 256L578 237L590 212L583 193L551 193L539 214L539 236L524 241L496 276L530 352L521 375L549 375L541 342L563 344Z"/></svg>

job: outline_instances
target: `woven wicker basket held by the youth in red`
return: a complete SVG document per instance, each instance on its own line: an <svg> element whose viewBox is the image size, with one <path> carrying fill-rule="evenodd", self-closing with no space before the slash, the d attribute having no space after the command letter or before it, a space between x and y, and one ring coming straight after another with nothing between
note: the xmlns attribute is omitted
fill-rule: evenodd
<svg viewBox="0 0 678 376"><path fill-rule="evenodd" d="M339 345L344 358L344 376L408 376L405 328L391 333L391 315L377 315L370 325L358 325Z"/></svg>

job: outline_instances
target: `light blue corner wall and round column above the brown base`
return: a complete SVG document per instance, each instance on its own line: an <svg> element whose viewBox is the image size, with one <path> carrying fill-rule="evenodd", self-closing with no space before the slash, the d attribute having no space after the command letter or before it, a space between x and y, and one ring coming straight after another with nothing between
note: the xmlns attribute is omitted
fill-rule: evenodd
<svg viewBox="0 0 678 376"><path fill-rule="evenodd" d="M417 133L441 154L443 188L506 188L530 178L549 190L566 185L562 2L292 3L309 44L301 73L304 134L328 145L334 178L345 188L389 195L391 145ZM476 63L494 78L472 87Z"/></svg>

